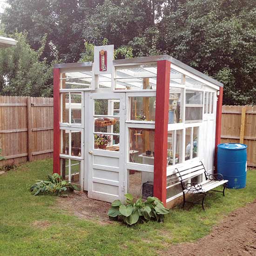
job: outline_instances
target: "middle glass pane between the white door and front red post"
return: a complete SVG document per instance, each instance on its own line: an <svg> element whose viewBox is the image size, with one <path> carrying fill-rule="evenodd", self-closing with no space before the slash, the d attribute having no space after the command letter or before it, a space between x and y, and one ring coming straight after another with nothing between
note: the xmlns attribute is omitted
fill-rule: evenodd
<svg viewBox="0 0 256 256"><path fill-rule="evenodd" d="M129 128L129 162L154 165L155 131Z"/></svg>

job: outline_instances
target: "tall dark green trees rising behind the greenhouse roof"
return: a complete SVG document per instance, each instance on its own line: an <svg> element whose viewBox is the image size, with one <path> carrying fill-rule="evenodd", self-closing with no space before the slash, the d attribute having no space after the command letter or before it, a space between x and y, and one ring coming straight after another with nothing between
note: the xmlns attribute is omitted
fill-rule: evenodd
<svg viewBox="0 0 256 256"><path fill-rule="evenodd" d="M225 104L256 104L256 0L7 0L7 34L27 32L40 61L170 54L224 83ZM128 55L127 55L128 54Z"/></svg>

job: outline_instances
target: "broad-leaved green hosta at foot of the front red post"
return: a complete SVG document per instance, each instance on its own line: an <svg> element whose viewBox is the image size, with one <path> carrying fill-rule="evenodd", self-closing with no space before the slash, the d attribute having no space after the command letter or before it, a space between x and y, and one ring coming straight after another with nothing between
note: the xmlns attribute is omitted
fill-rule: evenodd
<svg viewBox="0 0 256 256"><path fill-rule="evenodd" d="M108 210L108 216L117 219L118 216L128 225L136 222L146 222L148 220L156 220L162 222L164 215L169 213L163 203L156 197L148 196L146 201L139 198L134 202L133 195L126 194L126 203L122 204L120 200L115 200Z"/></svg>

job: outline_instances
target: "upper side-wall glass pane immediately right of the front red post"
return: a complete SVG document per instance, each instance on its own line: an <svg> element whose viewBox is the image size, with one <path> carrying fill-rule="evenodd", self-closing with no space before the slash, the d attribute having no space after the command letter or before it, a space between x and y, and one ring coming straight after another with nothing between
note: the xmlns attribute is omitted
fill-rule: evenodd
<svg viewBox="0 0 256 256"><path fill-rule="evenodd" d="M182 122L182 92L182 88L170 88L168 123Z"/></svg>

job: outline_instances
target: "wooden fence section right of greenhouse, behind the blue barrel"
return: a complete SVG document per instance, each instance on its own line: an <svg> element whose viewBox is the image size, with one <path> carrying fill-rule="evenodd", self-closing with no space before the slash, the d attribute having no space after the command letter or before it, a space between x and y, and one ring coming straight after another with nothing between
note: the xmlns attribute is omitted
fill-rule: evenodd
<svg viewBox="0 0 256 256"><path fill-rule="evenodd" d="M256 167L256 106L222 106L221 142L246 144L247 165Z"/></svg>

